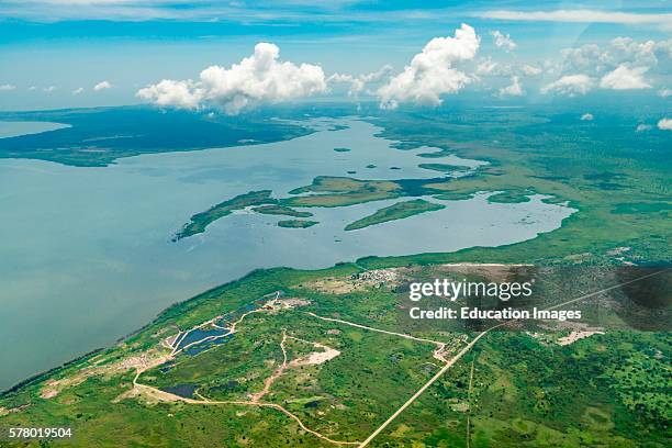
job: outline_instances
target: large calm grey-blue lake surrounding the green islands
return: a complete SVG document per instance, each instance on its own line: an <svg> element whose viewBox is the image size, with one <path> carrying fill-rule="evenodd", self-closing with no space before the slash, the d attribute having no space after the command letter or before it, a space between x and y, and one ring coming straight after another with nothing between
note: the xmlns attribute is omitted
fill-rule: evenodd
<svg viewBox="0 0 672 448"><path fill-rule="evenodd" d="M334 131L335 124L347 128ZM440 173L417 165L484 164L417 157L436 148L392 148L394 142L363 121L314 125L315 133L292 141L144 155L105 168L0 160L0 389L112 344L169 304L255 268L512 244L558 228L574 212L540 195L491 204L490 193L481 193L464 201L426 198L447 206L351 232L346 224L395 201L311 209L320 224L305 229L275 225L287 217L242 211L204 234L170 242L192 214L250 190L283 197L315 176L435 178Z"/></svg>

